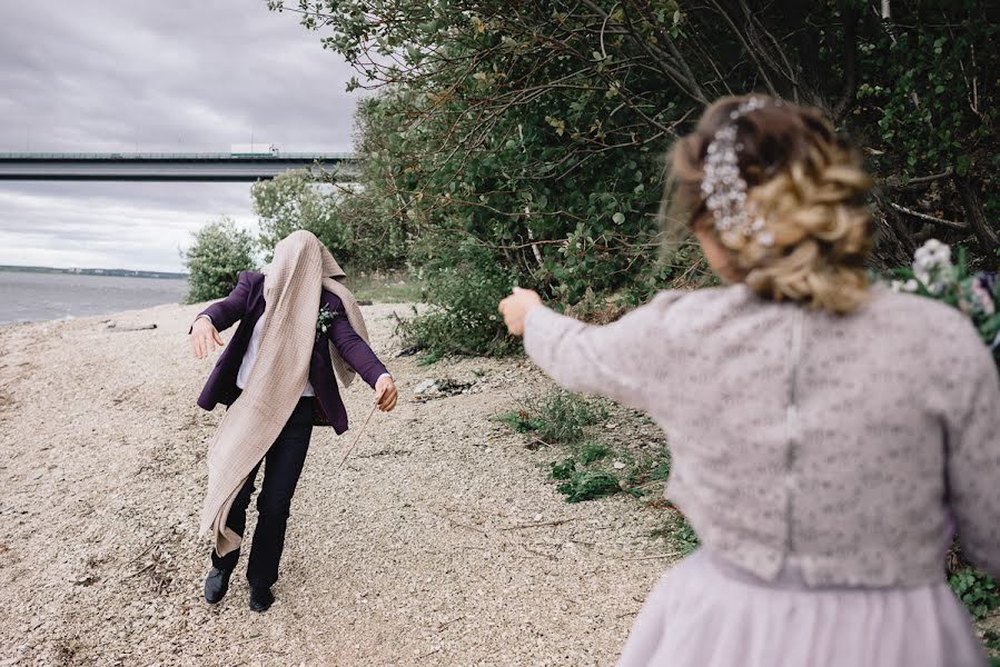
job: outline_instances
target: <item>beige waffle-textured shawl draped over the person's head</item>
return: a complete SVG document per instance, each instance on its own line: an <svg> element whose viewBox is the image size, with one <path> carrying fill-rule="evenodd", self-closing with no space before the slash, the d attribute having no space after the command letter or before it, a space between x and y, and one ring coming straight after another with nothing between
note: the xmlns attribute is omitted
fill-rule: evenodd
<svg viewBox="0 0 1000 667"><path fill-rule="evenodd" d="M226 526L236 495L281 432L306 387L323 290L340 298L350 326L368 341L357 300L341 282L346 273L311 232L295 231L279 241L261 272L265 308L257 356L242 394L208 446L208 494L200 531L214 534L220 556L241 541ZM329 350L337 378L349 386L354 370L333 342Z"/></svg>

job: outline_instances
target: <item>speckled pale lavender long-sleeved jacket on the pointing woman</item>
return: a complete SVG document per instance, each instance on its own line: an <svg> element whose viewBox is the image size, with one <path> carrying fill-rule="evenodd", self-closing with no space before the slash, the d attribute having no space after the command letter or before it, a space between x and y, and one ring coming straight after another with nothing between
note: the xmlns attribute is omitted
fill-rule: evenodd
<svg viewBox="0 0 1000 667"><path fill-rule="evenodd" d="M652 415L667 497L764 579L792 561L811 586L938 583L952 518L1000 575L1000 380L957 310L881 287L848 317L745 286L667 291L605 327L537 308L525 348Z"/></svg>

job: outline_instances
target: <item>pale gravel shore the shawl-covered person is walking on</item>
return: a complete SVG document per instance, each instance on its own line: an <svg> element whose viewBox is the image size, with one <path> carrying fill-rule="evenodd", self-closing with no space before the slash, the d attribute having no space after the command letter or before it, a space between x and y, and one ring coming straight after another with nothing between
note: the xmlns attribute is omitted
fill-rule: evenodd
<svg viewBox="0 0 1000 667"><path fill-rule="evenodd" d="M403 306L364 309L399 406L339 472L349 438L314 431L278 601L249 611L244 560L206 605L196 532L221 410L195 406L198 310L0 328L0 665L613 664L670 563L655 516L564 502L552 454L489 419L545 380L525 361L396 358ZM476 391L417 400L442 377ZM370 390L345 399L359 424Z"/></svg>

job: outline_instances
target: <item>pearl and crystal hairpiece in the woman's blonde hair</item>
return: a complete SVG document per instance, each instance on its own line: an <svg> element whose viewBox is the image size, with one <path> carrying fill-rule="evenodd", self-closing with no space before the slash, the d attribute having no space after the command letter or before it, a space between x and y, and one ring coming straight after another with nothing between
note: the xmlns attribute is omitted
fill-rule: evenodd
<svg viewBox="0 0 1000 667"><path fill-rule="evenodd" d="M729 243L753 239L759 245L774 245L774 235L765 229L763 217L754 213L746 201L746 181L740 176L739 153L743 145L736 141L736 120L766 106L762 98L752 97L730 112L730 122L719 129L709 143L702 195L715 220L715 230Z"/></svg>

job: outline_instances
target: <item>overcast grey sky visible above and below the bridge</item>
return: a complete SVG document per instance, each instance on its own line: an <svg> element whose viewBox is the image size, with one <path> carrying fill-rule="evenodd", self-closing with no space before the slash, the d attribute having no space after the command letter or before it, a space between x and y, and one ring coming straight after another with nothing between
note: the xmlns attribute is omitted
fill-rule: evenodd
<svg viewBox="0 0 1000 667"><path fill-rule="evenodd" d="M0 0L0 152L352 148L353 76L265 0ZM249 183L0 181L0 265L182 270Z"/></svg>

